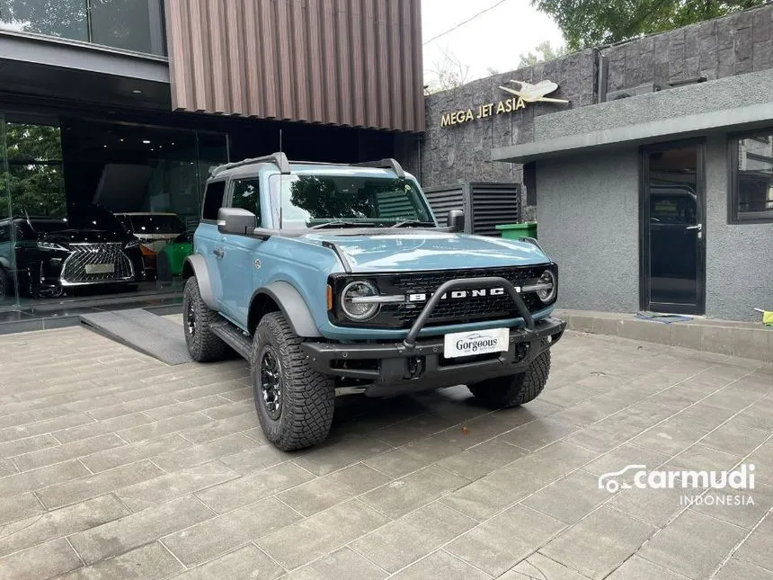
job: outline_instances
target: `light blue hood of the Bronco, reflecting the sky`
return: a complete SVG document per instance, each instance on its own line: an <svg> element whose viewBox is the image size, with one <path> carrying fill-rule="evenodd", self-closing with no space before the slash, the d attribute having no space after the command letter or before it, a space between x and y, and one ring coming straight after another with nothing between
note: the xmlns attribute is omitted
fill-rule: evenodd
<svg viewBox="0 0 773 580"><path fill-rule="evenodd" d="M532 244L499 237L422 230L375 236L309 234L310 242L338 245L353 272L495 268L550 262Z"/></svg>

